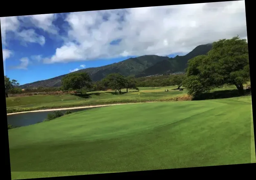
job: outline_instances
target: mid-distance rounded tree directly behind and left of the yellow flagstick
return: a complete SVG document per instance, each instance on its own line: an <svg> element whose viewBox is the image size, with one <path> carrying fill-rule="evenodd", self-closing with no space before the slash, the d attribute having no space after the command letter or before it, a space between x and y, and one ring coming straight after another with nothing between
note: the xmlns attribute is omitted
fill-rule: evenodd
<svg viewBox="0 0 256 180"><path fill-rule="evenodd" d="M113 90L118 90L121 94L121 89L126 87L126 79L119 73L112 73L107 75L103 80L103 84Z"/></svg>

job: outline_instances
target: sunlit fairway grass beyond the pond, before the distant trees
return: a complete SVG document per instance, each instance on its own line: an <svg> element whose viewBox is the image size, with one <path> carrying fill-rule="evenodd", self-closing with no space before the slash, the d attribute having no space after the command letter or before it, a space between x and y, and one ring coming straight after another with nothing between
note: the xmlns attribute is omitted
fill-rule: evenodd
<svg viewBox="0 0 256 180"><path fill-rule="evenodd" d="M79 97L76 95L33 95L23 97L8 97L6 98L6 106L7 113L13 113L57 107L164 101L180 95L186 95L186 90L171 90L173 88L175 88L175 86L157 88L141 87L140 98L138 92L135 92L135 90L129 90L128 93L116 95L111 94L111 92L114 91L89 92L87 93L89 98ZM169 89L169 92L164 92L164 89ZM126 92L126 89L123 89L122 92Z"/></svg>

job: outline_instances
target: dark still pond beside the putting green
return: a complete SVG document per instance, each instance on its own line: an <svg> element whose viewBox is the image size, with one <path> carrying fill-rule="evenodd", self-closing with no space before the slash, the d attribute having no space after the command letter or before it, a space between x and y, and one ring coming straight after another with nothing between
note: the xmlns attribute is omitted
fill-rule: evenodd
<svg viewBox="0 0 256 180"><path fill-rule="evenodd" d="M88 109L93 109L97 107L83 108L83 109L70 109L73 113L84 111ZM61 110L61 112L66 112L69 110ZM21 127L27 125L33 125L39 122L43 122L49 113L53 113L53 111L44 111L44 112L29 112L29 113L21 113L14 115L7 115L7 122L9 125L13 125L14 127Z"/></svg>

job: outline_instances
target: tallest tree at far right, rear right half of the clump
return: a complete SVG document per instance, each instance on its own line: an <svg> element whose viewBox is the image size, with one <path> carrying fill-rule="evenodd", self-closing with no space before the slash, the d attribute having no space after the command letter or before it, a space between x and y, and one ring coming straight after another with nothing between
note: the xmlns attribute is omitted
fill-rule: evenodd
<svg viewBox="0 0 256 180"><path fill-rule="evenodd" d="M218 73L224 82L235 85L242 94L243 84L250 79L248 43L238 36L213 43L208 56L219 63Z"/></svg>

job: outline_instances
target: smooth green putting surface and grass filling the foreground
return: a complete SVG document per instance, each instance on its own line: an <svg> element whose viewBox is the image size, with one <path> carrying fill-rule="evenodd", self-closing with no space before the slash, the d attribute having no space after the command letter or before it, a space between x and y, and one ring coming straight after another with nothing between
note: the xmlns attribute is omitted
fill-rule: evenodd
<svg viewBox="0 0 256 180"><path fill-rule="evenodd" d="M251 96L76 112L8 130L12 178L251 163L251 125Z"/></svg>

